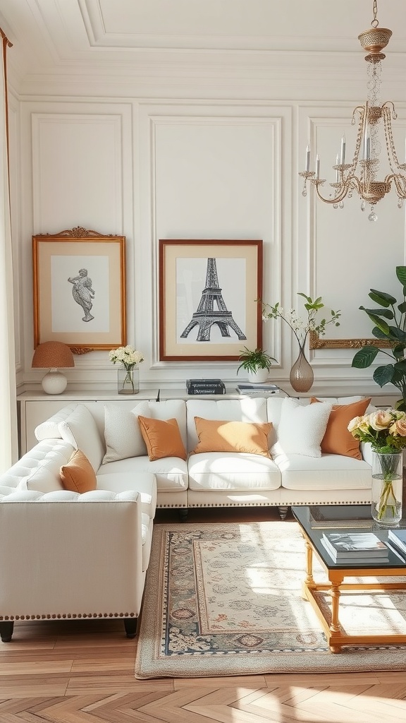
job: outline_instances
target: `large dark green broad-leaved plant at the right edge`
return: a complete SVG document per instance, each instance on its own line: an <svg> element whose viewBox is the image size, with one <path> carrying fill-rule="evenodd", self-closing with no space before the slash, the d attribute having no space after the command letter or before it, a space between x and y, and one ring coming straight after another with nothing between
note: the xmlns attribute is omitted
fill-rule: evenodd
<svg viewBox="0 0 406 723"><path fill-rule="evenodd" d="M386 354L394 361L376 367L373 380L383 387L393 384L401 393L402 398L396 403L396 408L406 411L406 266L397 266L396 275L402 284L402 301L386 294L386 291L376 291L371 288L369 298L379 304L377 309L360 309L373 323L372 334L376 339L389 342L390 351L376 346L363 346L354 356L352 366L356 369L366 369L373 363L376 354Z"/></svg>

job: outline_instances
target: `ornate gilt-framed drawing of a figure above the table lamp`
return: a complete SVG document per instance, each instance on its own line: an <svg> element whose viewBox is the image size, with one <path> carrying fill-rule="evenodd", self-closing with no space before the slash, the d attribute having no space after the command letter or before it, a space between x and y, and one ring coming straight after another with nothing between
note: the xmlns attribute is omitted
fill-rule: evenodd
<svg viewBox="0 0 406 723"><path fill-rule="evenodd" d="M77 227L33 236L34 346L126 344L125 237Z"/></svg>

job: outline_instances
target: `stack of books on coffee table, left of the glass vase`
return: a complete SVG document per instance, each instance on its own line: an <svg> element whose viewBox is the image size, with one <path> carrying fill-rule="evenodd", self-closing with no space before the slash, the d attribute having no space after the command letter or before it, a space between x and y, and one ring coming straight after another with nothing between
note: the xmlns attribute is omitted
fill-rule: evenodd
<svg viewBox="0 0 406 723"><path fill-rule="evenodd" d="M389 548L373 532L327 532L321 542L334 562L386 562Z"/></svg>

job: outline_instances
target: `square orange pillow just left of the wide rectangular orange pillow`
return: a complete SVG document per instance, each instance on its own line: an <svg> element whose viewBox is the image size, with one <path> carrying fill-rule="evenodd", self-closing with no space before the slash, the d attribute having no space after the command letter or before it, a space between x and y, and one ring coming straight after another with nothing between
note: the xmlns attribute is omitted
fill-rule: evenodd
<svg viewBox="0 0 406 723"><path fill-rule="evenodd" d="M176 419L163 421L163 419L139 416L138 422L142 438L147 445L150 462L163 457L186 459L186 449Z"/></svg>

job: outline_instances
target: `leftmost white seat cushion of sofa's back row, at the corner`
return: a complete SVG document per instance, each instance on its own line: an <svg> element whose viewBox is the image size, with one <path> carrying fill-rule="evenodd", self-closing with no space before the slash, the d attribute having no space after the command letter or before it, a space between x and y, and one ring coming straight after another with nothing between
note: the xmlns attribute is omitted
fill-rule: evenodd
<svg viewBox="0 0 406 723"><path fill-rule="evenodd" d="M178 457L164 457L150 462L147 456L130 457L116 462L103 464L97 472L98 479L104 474L122 474L130 472L139 474L155 474L158 492L183 492L188 487L188 470L186 462Z"/></svg>

